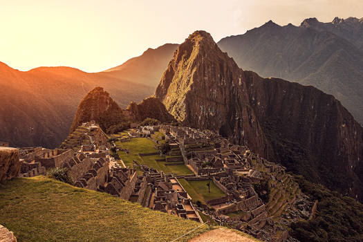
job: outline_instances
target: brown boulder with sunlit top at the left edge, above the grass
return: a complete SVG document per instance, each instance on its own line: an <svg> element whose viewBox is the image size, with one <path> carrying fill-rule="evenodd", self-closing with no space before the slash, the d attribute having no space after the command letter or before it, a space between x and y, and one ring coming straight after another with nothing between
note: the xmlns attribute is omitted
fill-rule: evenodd
<svg viewBox="0 0 363 242"><path fill-rule="evenodd" d="M19 149L0 147L0 181L17 177L20 167Z"/></svg>

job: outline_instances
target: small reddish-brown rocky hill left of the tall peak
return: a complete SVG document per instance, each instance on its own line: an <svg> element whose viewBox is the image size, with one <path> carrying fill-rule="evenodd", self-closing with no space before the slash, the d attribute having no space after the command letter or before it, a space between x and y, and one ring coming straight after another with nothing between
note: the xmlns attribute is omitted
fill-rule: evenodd
<svg viewBox="0 0 363 242"><path fill-rule="evenodd" d="M90 91L80 102L73 119L71 132L75 131L83 122L95 120L106 131L111 125L125 120L122 109L102 87Z"/></svg>

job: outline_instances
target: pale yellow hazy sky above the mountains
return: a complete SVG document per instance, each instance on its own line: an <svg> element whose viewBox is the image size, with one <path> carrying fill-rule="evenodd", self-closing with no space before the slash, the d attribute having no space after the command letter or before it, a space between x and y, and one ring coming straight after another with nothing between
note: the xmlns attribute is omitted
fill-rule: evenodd
<svg viewBox="0 0 363 242"><path fill-rule="evenodd" d="M272 19L363 17L362 0L0 0L0 62L27 71L72 66L103 71L194 30L214 41Z"/></svg>

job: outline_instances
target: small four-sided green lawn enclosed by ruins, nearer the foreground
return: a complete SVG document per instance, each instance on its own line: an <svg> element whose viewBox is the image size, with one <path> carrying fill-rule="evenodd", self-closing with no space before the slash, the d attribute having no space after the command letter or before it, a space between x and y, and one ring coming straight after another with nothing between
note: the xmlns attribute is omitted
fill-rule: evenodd
<svg viewBox="0 0 363 242"><path fill-rule="evenodd" d="M189 196L192 197L194 203L196 203L196 201L201 201L201 203L205 204L205 201L226 196L212 181L210 183L210 192L207 187L207 183L209 183L208 180L179 179L179 182L183 185Z"/></svg>

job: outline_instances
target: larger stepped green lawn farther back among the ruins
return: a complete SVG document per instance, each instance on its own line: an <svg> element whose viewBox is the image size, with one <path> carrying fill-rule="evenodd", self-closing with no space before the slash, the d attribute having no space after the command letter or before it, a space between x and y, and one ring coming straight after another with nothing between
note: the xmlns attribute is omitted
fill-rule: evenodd
<svg viewBox="0 0 363 242"><path fill-rule="evenodd" d="M118 151L121 160L124 161L124 165L132 167L132 160L140 162L140 164L153 167L158 171L164 171L166 174L174 173L176 175L193 174L185 165L165 165L166 162L156 161L156 159L162 158L158 155L153 156L139 156L138 153L152 153L158 151L153 142L148 138L132 138L128 142L116 142L118 147L123 149L129 149L130 153L127 154L124 151Z"/></svg>

